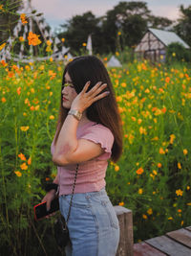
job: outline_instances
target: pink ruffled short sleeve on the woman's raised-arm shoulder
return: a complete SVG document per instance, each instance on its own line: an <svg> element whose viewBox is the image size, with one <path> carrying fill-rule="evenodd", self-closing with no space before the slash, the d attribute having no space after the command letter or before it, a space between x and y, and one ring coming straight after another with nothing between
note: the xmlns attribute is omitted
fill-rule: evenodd
<svg viewBox="0 0 191 256"><path fill-rule="evenodd" d="M114 135L109 128L96 124L87 128L85 133L80 136L80 139L86 139L100 144L105 152L97 157L99 160L106 160L111 157Z"/></svg>

